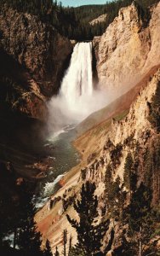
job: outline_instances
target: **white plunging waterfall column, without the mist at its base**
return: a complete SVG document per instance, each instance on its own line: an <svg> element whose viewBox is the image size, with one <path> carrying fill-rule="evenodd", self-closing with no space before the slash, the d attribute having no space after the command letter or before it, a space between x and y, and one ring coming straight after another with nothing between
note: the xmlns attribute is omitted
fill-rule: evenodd
<svg viewBox="0 0 160 256"><path fill-rule="evenodd" d="M71 56L71 64L62 81L60 96L66 98L69 108L76 108L83 96L93 93L92 43L76 44Z"/></svg>

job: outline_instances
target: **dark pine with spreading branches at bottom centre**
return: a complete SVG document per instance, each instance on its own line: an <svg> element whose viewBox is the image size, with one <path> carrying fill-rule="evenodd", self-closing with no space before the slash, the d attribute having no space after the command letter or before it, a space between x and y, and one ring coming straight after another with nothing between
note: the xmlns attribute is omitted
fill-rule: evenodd
<svg viewBox="0 0 160 256"><path fill-rule="evenodd" d="M71 226L77 230L77 245L71 249L71 255L100 255L101 240L108 230L110 221L96 224L98 215L98 200L94 195L95 184L87 182L81 190L81 200L74 203L79 221L67 219Z"/></svg>

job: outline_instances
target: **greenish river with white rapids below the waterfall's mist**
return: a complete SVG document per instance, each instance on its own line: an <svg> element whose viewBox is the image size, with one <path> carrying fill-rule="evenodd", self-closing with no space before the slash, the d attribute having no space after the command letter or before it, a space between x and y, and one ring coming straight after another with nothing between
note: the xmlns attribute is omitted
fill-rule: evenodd
<svg viewBox="0 0 160 256"><path fill-rule="evenodd" d="M80 161L80 155L71 143L75 137L74 128L67 125L46 141L44 147L53 148L53 155L49 156L51 165L46 177L37 185L37 208L42 207L48 201L49 196L54 195L54 192L60 189L60 179Z"/></svg>

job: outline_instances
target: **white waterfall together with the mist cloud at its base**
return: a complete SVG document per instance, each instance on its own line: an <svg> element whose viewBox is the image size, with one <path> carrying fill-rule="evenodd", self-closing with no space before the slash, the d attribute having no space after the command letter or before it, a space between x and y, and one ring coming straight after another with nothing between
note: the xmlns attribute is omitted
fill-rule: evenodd
<svg viewBox="0 0 160 256"><path fill-rule="evenodd" d="M60 131L65 125L76 125L90 113L106 106L106 93L94 89L92 43L78 43L58 96L49 102L49 127Z"/></svg>

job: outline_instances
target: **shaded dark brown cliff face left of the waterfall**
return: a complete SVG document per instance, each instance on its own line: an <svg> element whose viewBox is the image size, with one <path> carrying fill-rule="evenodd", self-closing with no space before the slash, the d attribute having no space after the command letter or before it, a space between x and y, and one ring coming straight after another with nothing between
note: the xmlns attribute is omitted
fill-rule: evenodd
<svg viewBox="0 0 160 256"><path fill-rule="evenodd" d="M71 54L70 41L37 16L3 6L0 10L0 49L4 79L9 78L20 87L18 90L14 86L17 89L13 96L14 108L43 119L45 99L58 90Z"/></svg>

